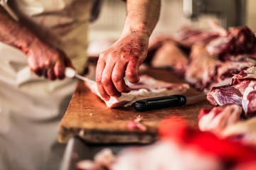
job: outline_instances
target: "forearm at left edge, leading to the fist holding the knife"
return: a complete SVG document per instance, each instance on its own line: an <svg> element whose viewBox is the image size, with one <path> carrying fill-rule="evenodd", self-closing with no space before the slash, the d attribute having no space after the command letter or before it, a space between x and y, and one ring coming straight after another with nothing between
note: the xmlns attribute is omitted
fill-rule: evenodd
<svg viewBox="0 0 256 170"><path fill-rule="evenodd" d="M14 21L9 13L0 6L0 41L17 47L23 52L28 51L32 42L38 40L36 35L21 23Z"/></svg>

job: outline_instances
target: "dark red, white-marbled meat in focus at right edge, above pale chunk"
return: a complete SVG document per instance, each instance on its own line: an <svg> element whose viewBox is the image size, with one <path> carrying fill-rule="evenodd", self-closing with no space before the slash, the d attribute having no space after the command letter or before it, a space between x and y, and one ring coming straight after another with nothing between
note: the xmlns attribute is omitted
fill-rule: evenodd
<svg viewBox="0 0 256 170"><path fill-rule="evenodd" d="M242 70L233 76L233 84L213 87L207 94L207 99L214 106L225 103L235 103L242 106L245 117L256 114L256 68Z"/></svg>

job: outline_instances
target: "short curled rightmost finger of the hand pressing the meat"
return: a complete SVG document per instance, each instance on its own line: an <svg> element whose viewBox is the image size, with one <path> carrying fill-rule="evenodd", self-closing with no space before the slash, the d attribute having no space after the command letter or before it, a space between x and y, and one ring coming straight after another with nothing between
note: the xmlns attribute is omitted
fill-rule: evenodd
<svg viewBox="0 0 256 170"><path fill-rule="evenodd" d="M135 84L139 81L139 62L137 61L130 61L127 64L127 71L126 71L126 75L128 80L132 83Z"/></svg>

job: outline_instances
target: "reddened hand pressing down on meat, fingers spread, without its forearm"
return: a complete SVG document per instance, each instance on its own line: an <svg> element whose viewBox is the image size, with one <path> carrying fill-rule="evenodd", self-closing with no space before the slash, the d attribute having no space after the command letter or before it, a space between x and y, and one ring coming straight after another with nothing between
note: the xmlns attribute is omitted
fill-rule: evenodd
<svg viewBox="0 0 256 170"><path fill-rule="evenodd" d="M135 32L124 35L100 54L96 69L97 89L106 101L110 96L128 93L124 77L135 84L139 81L139 66L146 58L149 35Z"/></svg>

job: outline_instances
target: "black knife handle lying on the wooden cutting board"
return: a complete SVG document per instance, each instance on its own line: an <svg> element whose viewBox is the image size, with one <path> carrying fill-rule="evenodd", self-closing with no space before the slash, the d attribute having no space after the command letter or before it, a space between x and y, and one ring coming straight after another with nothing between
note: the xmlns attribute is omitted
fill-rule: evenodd
<svg viewBox="0 0 256 170"><path fill-rule="evenodd" d="M134 103L137 111L150 111L158 108L169 108L183 106L186 104L186 97L182 95L161 96L156 98L146 98Z"/></svg>

